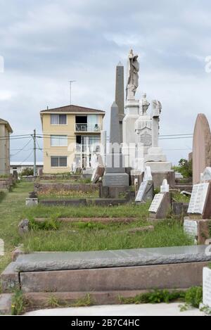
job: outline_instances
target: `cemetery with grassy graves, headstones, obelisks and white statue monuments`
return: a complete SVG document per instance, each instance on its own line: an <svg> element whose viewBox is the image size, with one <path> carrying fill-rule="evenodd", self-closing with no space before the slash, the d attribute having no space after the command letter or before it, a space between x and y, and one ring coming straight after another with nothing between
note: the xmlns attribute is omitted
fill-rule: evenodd
<svg viewBox="0 0 211 330"><path fill-rule="evenodd" d="M211 307L209 123L198 115L192 184L176 177L159 146L162 104L148 102L146 94L135 98L137 58L129 52L125 106L119 81L124 68L117 65L109 143L102 134L91 168L41 173L32 182L20 179L0 200L6 241L1 290L4 295L21 292L27 301L23 312L49 307L51 296L106 305L154 289L181 292L202 286L203 308Z"/></svg>

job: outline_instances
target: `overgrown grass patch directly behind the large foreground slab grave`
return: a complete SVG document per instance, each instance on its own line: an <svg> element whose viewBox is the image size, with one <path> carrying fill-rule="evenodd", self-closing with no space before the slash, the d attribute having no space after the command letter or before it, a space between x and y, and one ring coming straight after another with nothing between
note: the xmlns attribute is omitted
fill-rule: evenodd
<svg viewBox="0 0 211 330"><path fill-rule="evenodd" d="M193 245L193 239L184 234L183 227L171 220L155 224L155 231L130 234L127 229L141 227L146 222L133 224L92 224L80 227L63 224L59 231L34 231L25 236L26 252L30 251L84 251L118 250L130 248L158 248ZM72 229L75 229L72 230Z"/></svg>

